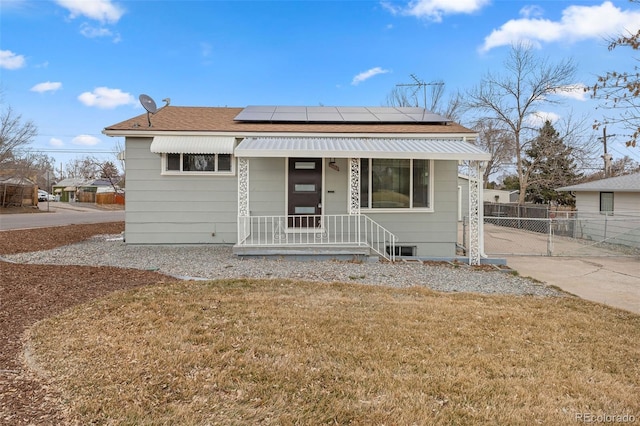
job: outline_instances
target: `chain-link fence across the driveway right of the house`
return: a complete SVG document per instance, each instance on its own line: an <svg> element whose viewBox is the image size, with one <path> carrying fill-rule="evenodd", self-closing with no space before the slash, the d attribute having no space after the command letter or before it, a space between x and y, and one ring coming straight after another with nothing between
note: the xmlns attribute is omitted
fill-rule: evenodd
<svg viewBox="0 0 640 426"><path fill-rule="evenodd" d="M549 216L553 217L485 216L485 253L490 256L640 255L640 212L552 212ZM462 245L466 246L464 228L462 236Z"/></svg>

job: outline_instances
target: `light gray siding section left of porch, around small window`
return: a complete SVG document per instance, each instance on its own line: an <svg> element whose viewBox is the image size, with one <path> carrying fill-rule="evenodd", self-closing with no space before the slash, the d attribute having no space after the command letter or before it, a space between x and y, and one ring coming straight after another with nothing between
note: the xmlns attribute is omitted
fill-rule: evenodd
<svg viewBox="0 0 640 426"><path fill-rule="evenodd" d="M236 176L162 175L151 138L127 138L128 244L233 244Z"/></svg>

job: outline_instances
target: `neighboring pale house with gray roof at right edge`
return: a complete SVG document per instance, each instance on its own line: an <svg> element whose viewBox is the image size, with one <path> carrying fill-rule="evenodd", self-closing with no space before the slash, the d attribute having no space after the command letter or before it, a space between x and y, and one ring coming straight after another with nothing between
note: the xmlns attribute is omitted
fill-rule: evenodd
<svg viewBox="0 0 640 426"><path fill-rule="evenodd" d="M616 176L557 191L576 197L581 238L640 247L640 173Z"/></svg>

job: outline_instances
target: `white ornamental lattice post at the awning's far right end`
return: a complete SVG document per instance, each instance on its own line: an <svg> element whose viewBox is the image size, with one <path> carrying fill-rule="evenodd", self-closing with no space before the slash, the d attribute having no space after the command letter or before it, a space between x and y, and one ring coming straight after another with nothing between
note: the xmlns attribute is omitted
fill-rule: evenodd
<svg viewBox="0 0 640 426"><path fill-rule="evenodd" d="M481 161L469 162L469 265L479 265L484 254L484 203Z"/></svg>

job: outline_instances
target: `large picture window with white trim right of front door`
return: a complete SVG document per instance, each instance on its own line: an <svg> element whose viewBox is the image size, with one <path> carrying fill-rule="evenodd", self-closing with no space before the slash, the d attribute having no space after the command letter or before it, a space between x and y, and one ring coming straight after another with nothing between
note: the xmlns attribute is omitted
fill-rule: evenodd
<svg viewBox="0 0 640 426"><path fill-rule="evenodd" d="M433 209L432 160L360 160L360 208Z"/></svg>

